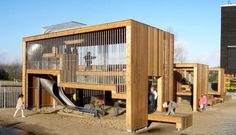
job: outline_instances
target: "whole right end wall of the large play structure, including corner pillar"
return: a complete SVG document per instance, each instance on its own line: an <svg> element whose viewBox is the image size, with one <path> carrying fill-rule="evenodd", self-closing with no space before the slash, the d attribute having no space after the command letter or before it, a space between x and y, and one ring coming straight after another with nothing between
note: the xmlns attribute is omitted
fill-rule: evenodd
<svg viewBox="0 0 236 135"><path fill-rule="evenodd" d="M174 36L135 21L126 30L127 128L136 130L147 126L148 76L160 77L158 110L173 99Z"/></svg>

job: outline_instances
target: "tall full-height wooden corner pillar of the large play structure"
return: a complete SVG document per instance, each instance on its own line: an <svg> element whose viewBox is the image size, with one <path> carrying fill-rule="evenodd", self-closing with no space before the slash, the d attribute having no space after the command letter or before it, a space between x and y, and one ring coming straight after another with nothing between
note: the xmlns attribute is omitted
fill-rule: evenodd
<svg viewBox="0 0 236 135"><path fill-rule="evenodd" d="M148 27L133 21L127 30L127 129L147 126Z"/></svg>

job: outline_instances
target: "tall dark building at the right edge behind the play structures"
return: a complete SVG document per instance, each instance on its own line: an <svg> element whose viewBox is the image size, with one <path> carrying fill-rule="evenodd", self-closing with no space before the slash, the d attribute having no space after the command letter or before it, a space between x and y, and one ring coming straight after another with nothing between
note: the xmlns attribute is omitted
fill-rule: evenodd
<svg viewBox="0 0 236 135"><path fill-rule="evenodd" d="M236 4L221 6L221 62L226 74L236 74Z"/></svg>

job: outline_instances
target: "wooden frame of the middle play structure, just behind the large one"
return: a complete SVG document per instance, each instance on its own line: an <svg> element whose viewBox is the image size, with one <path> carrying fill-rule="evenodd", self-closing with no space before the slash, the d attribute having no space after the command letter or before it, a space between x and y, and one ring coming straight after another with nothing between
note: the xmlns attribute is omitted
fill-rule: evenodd
<svg viewBox="0 0 236 135"><path fill-rule="evenodd" d="M181 71L190 72L192 77L191 91L182 88L182 78ZM190 96L192 97L192 108L193 111L198 110L198 100L201 95L208 94L208 66L204 64L192 64L192 63L182 63L174 65L174 90L176 91L176 97L178 96Z"/></svg>

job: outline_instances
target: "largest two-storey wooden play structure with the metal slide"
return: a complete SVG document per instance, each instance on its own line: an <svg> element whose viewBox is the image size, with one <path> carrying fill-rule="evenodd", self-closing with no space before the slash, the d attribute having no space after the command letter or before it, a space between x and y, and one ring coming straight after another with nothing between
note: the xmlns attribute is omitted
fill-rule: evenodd
<svg viewBox="0 0 236 135"><path fill-rule="evenodd" d="M104 94L105 102L109 98L126 100L127 130L147 127L149 79L157 79L158 111L163 111L162 104L175 96L173 44L173 34L134 20L26 37L26 107L55 105L62 99L68 104L81 104L85 102L84 93L98 91ZM196 66L193 70L198 73L205 69ZM200 75L196 75L200 84ZM57 98L60 92L71 102L65 96ZM78 100L72 101L73 94Z"/></svg>

